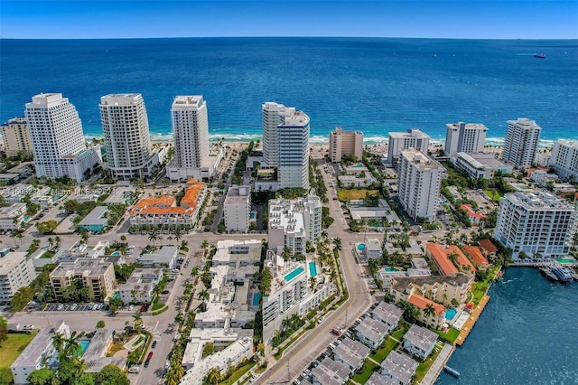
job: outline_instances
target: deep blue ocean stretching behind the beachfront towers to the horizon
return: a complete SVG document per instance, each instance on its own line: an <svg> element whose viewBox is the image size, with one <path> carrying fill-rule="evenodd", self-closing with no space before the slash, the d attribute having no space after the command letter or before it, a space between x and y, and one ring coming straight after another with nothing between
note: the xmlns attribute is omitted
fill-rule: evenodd
<svg viewBox="0 0 578 385"><path fill-rule="evenodd" d="M447 123L465 121L499 144L517 117L536 120L542 146L578 138L575 40L2 39L0 52L0 121L22 116L34 94L61 92L89 137L102 136L101 96L138 92L157 140L172 136L172 99L183 94L207 100L212 139L260 137L266 101L308 114L312 143L338 126L368 144L409 128L439 141Z"/></svg>

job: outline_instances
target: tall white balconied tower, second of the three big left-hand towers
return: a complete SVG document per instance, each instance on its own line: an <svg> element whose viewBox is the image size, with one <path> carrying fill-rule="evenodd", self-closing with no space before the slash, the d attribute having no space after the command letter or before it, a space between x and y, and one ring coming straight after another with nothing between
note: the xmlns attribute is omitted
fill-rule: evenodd
<svg viewBox="0 0 578 385"><path fill-rule="evenodd" d="M151 155L148 117L141 94L100 98L100 120L107 146L107 167L121 181L144 178Z"/></svg>

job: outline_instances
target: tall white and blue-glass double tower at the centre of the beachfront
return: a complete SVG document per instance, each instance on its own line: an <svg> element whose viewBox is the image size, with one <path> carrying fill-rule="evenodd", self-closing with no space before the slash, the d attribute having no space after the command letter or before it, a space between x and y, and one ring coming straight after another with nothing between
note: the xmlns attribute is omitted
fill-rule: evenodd
<svg viewBox="0 0 578 385"><path fill-rule="evenodd" d="M263 105L263 163L277 167L279 188L309 188L309 117L303 111Z"/></svg>

